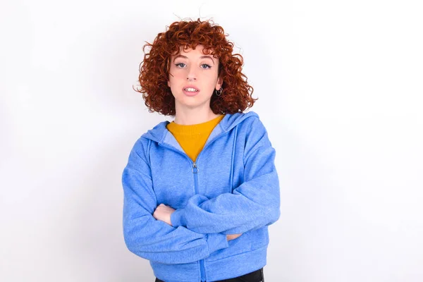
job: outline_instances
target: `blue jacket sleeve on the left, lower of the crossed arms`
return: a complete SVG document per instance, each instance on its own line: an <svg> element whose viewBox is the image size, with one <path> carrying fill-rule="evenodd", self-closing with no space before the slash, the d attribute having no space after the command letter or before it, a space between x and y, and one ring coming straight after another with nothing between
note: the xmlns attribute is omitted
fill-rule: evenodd
<svg viewBox="0 0 423 282"><path fill-rule="evenodd" d="M151 170L141 157L140 142L130 152L123 169L123 235L128 249L154 262L183 264L195 262L228 247L223 233L201 234L183 226L169 226L154 219L157 207Z"/></svg>

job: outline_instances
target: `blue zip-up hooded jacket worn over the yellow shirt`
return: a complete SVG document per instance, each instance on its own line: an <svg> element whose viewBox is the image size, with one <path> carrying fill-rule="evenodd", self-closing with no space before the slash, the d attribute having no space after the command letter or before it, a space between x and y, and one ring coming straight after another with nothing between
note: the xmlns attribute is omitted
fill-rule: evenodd
<svg viewBox="0 0 423 282"><path fill-rule="evenodd" d="M226 114L195 162L166 129L143 134L123 169L123 235L166 282L233 278L266 265L267 227L280 216L275 150L254 112ZM176 209L171 223L152 214ZM226 234L239 238L226 240Z"/></svg>

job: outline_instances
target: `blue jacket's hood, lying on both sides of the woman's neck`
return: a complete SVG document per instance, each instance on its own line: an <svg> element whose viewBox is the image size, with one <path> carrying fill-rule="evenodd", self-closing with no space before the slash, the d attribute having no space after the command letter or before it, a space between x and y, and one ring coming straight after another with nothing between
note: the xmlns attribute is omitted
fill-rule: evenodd
<svg viewBox="0 0 423 282"><path fill-rule="evenodd" d="M212 139L212 137L215 137L216 135L219 135L221 133L228 132L236 125L244 121L245 118L249 118L252 116L258 117L258 114L255 113L255 111L249 111L247 113L226 114L218 124L219 126L216 126L214 128L209 139ZM168 139L166 138L166 135L167 133L170 133L166 128L166 125L168 125L168 123L170 122L162 121L158 125L154 126L154 128L148 130L147 133L144 133L141 137L151 139L159 144L166 142L166 139Z"/></svg>

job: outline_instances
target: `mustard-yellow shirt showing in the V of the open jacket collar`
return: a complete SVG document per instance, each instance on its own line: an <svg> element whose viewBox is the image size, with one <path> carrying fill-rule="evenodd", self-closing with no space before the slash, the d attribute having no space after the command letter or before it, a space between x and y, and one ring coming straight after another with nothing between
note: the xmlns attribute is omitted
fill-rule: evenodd
<svg viewBox="0 0 423 282"><path fill-rule="evenodd" d="M166 128L176 138L180 147L188 154L188 157L190 157L192 161L195 161L206 144L210 133L212 133L216 125L219 124L223 116L225 115L218 116L205 123L193 125L180 125L172 121L166 125Z"/></svg>

